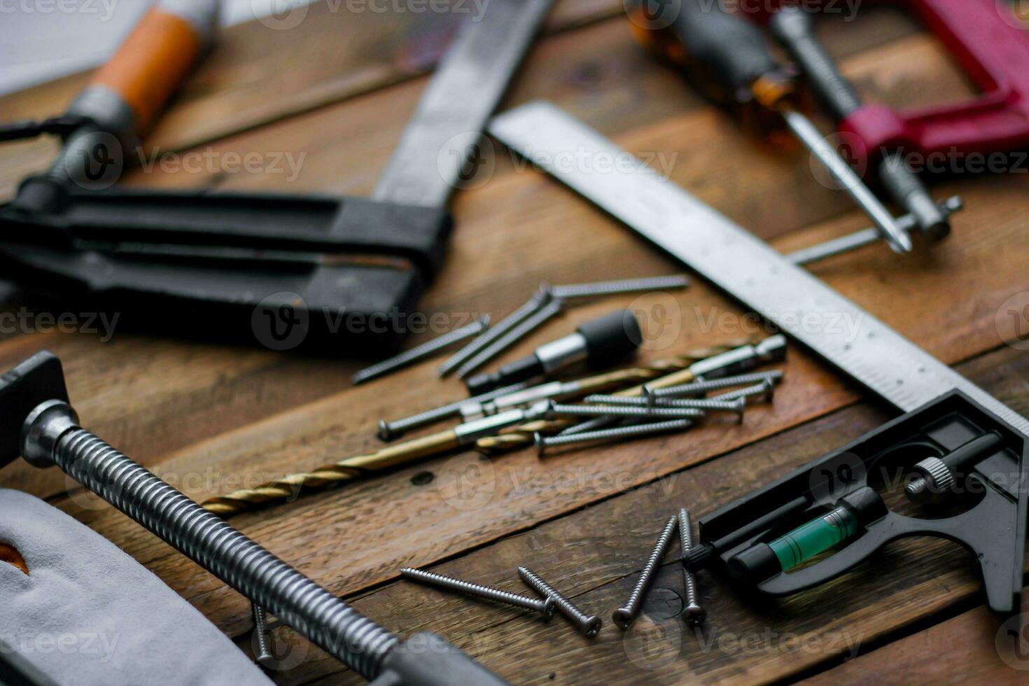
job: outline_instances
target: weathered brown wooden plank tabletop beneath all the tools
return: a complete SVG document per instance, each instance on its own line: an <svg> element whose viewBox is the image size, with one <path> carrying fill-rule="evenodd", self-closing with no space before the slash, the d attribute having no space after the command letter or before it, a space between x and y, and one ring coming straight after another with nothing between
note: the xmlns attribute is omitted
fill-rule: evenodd
<svg viewBox="0 0 1029 686"><path fill-rule="evenodd" d="M316 3L284 30L257 22L228 30L148 140L158 164L127 182L366 193L460 16L347 7ZM917 105L968 93L943 48L898 12L862 8L853 22L827 21L820 30L870 100ZM84 78L5 98L3 118L60 112ZM630 151L661 155L654 164L667 164L676 183L780 249L865 225L842 193L812 178L807 155L760 148L655 66L632 40L617 0L558 3L504 108L536 98L555 101ZM0 150L5 196L47 164L52 146L35 141ZM228 164L246 152L263 160L253 173ZM276 158L283 160L279 172ZM456 196L458 227L425 300L429 313L503 316L543 280L680 270L551 179L520 171L500 146L494 158L488 182ZM899 257L878 246L814 270L1029 412L1029 358L1003 345L997 328L998 317L1006 317L998 314L1001 304L1029 291L1027 191L1025 169L938 181L937 195L961 193L967 209L931 253ZM570 311L508 359L631 301ZM737 306L702 282L676 302L681 331L674 348L648 357L750 333L735 317L742 314ZM189 328L188 321L179 324ZM6 330L0 366L44 348L59 354L86 426L198 500L372 449L380 419L462 397L460 383L437 381L431 363L352 388L350 374L360 365L349 360L127 331L100 338ZM234 523L387 627L440 633L519 684L1024 679L997 656L999 622L983 606L967 554L936 540L892 546L836 583L764 607L702 575L709 620L700 635L675 621L625 635L610 624L671 512L685 506L704 514L889 417L803 352L793 350L785 368L774 406L754 408L739 428L713 425L545 459L532 450L492 461L449 456ZM245 599L73 481L14 464L0 473L0 485L46 498L107 536L249 649ZM521 591L519 565L602 614L600 637L591 642L561 620L541 625L505 607L398 580L401 567L429 566ZM890 572L877 576L875 568ZM680 584L669 561L657 585L674 591ZM660 591L652 604L676 600ZM660 617L660 608L650 610ZM277 681L360 681L288 628L276 634L292 645Z"/></svg>

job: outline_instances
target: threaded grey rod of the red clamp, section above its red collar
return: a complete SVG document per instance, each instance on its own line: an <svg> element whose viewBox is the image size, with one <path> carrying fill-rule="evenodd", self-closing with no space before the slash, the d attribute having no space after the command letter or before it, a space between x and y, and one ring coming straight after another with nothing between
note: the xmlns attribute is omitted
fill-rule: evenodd
<svg viewBox="0 0 1029 686"><path fill-rule="evenodd" d="M783 7L769 22L769 29L804 71L815 97L837 119L861 107L861 100L837 68L814 33L811 14L799 7Z"/></svg>

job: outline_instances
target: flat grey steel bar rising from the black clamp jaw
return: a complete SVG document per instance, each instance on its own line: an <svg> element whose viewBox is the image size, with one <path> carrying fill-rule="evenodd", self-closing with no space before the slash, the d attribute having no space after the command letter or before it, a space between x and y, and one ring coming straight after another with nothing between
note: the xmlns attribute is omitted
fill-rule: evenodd
<svg viewBox="0 0 1029 686"><path fill-rule="evenodd" d="M469 9L472 7L468 3ZM507 89L551 0L490 0L439 63L371 198L442 207Z"/></svg>

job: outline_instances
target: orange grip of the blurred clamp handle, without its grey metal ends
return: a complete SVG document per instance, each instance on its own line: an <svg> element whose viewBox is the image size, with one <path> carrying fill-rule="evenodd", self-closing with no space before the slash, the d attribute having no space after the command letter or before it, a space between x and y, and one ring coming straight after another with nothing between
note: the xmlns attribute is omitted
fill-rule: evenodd
<svg viewBox="0 0 1029 686"><path fill-rule="evenodd" d="M152 7L94 76L92 84L118 94L132 109L137 135L150 129L206 47L216 12L202 16L209 26L198 19Z"/></svg>

